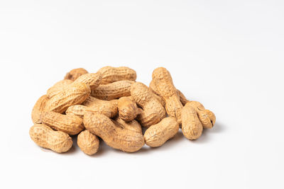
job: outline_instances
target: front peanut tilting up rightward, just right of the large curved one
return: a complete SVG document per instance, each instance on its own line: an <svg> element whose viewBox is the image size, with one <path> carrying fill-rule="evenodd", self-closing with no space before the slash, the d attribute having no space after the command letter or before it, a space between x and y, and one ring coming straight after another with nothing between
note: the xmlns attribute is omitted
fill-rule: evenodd
<svg viewBox="0 0 284 189"><path fill-rule="evenodd" d="M173 117L164 118L146 130L144 139L149 147L160 147L178 133L179 125Z"/></svg>

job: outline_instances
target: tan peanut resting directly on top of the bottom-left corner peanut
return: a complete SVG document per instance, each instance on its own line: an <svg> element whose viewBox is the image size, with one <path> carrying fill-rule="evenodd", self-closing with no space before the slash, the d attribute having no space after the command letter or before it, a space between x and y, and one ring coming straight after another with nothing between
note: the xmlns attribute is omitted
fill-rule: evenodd
<svg viewBox="0 0 284 189"><path fill-rule="evenodd" d="M54 130L59 130L70 135L78 134L84 130L82 118L76 115L62 115L55 112L40 114L40 120Z"/></svg>

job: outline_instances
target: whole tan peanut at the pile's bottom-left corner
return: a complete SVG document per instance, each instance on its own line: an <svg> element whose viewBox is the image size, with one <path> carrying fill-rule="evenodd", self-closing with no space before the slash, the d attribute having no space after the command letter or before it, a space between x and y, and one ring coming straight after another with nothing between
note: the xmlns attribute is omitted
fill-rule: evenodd
<svg viewBox="0 0 284 189"><path fill-rule="evenodd" d="M43 124L33 125L30 129L30 137L38 146L58 153L68 151L72 147L72 138L68 134L54 131Z"/></svg>

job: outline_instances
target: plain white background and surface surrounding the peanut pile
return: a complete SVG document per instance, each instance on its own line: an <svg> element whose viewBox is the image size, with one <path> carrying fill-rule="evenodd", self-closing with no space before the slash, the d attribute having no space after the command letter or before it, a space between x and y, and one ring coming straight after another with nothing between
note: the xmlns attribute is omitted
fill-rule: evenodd
<svg viewBox="0 0 284 189"><path fill-rule="evenodd" d="M0 188L284 188L283 23L271 0L0 1ZM215 127L134 154L36 146L35 101L70 69L107 65L145 84L167 68Z"/></svg>

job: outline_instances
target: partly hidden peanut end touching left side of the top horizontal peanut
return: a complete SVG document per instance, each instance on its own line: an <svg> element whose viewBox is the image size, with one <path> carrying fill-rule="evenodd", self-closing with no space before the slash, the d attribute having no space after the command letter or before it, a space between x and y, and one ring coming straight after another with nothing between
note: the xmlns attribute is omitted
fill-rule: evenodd
<svg viewBox="0 0 284 189"><path fill-rule="evenodd" d="M101 84L102 81L102 74L101 73L92 73L92 74L83 74L82 76L78 77L74 83L82 83L86 84L93 90L94 88L97 88L99 84Z"/></svg>

